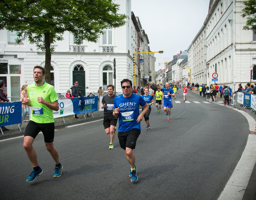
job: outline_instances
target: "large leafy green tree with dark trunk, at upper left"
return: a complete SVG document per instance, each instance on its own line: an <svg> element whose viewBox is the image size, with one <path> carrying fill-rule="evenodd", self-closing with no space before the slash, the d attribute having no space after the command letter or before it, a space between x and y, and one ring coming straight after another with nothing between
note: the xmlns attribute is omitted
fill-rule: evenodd
<svg viewBox="0 0 256 200"><path fill-rule="evenodd" d="M83 39L97 42L102 30L125 24L125 14L112 0L1 0L0 29L16 31L17 43L28 38L45 51L45 81L50 83L51 44L74 34L77 44Z"/></svg>

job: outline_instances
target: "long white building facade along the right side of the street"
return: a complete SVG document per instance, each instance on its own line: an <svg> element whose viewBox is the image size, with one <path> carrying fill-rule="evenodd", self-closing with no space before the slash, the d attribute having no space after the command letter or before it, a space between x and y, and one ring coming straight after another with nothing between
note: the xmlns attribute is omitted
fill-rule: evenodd
<svg viewBox="0 0 256 200"><path fill-rule="evenodd" d="M256 36L252 30L243 30L243 2L210 1L204 25L188 48L194 83L206 80L207 85L223 83L237 90L239 83L244 86L256 81ZM213 73L218 74L217 82L212 81Z"/></svg>

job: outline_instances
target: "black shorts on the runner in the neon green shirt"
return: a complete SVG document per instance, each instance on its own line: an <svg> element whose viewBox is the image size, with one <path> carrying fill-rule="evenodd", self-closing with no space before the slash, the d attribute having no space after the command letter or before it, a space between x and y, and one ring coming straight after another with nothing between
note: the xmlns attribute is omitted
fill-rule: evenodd
<svg viewBox="0 0 256 200"><path fill-rule="evenodd" d="M54 139L54 123L39 124L33 121L29 121L26 127L24 137L30 136L36 138L38 133L42 131L44 134L44 142L51 143Z"/></svg>

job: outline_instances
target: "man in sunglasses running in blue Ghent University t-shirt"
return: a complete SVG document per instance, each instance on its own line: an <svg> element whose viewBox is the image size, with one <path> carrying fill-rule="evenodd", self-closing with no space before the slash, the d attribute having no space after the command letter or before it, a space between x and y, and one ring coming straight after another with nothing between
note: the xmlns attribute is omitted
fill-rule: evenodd
<svg viewBox="0 0 256 200"><path fill-rule="evenodd" d="M135 149L136 141L140 135L140 122L147 113L149 106L140 95L132 94L132 82L129 79L123 79L121 86L123 94L114 100L113 115L119 117L119 144L125 150L125 157L131 165L129 177L131 177L132 182L135 182L138 180L138 176L133 149ZM139 112L140 106L144 108L141 114Z"/></svg>

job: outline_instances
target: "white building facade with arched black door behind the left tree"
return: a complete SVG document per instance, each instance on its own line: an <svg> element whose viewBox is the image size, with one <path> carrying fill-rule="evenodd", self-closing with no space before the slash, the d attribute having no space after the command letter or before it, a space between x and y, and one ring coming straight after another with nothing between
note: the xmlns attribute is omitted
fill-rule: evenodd
<svg viewBox="0 0 256 200"><path fill-rule="evenodd" d="M97 43L83 41L77 45L74 36L66 32L62 41L52 44L51 84L57 93L66 93L74 81L78 81L83 95L97 93L100 86L106 91L108 84L114 84L114 58L116 91L122 91L120 82L123 78L133 79L132 55L138 49L133 37L138 35L133 33L131 0L116 0L115 3L120 5L119 13L127 15L124 26L103 30ZM34 66L44 67L45 54L27 39L21 44L15 43L15 37L15 33L0 30L0 82L5 83L9 97L18 98L22 85L34 83ZM141 45L143 50L148 50L147 42ZM144 59L147 63L145 66L149 68L149 56Z"/></svg>

